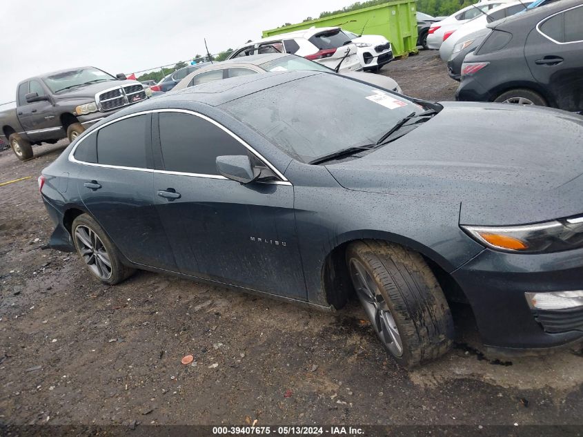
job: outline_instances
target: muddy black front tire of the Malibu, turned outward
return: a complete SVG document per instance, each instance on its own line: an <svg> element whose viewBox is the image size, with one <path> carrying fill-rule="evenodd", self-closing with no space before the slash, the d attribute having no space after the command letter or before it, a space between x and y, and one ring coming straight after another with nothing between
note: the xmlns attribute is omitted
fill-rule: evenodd
<svg viewBox="0 0 583 437"><path fill-rule="evenodd" d="M398 244L366 240L348 246L346 261L377 336L399 365L409 369L435 360L451 349L451 311L435 275L419 253ZM386 310L370 310L375 304L363 300L356 263L364 267L365 282L377 287L375 300L388 310L388 315ZM387 323L393 324L392 329ZM393 331L394 335L395 330L398 340L393 336L388 341L386 333Z"/></svg>

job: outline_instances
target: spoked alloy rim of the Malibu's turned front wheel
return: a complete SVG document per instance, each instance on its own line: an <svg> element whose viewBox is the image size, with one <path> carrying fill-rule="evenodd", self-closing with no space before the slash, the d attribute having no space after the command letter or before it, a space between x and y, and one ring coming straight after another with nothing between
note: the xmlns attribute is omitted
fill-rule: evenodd
<svg viewBox="0 0 583 437"><path fill-rule="evenodd" d="M394 356L402 356L403 342L397 323L372 275L361 262L353 258L350 260L350 276L364 311L379 338Z"/></svg>

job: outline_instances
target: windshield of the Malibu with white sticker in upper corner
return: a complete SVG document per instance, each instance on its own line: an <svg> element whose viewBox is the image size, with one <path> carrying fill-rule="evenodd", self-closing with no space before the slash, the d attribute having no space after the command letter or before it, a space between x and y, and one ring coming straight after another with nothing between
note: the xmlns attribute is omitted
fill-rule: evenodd
<svg viewBox="0 0 583 437"><path fill-rule="evenodd" d="M311 162L374 144L421 106L345 77L315 73L223 105L288 155Z"/></svg>

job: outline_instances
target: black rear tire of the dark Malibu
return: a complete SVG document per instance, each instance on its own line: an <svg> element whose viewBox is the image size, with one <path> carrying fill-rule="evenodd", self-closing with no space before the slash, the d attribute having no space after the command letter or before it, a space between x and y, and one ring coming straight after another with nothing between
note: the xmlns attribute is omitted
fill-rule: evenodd
<svg viewBox="0 0 583 437"><path fill-rule="evenodd" d="M92 244L95 244L95 247L93 248L94 250L92 250L90 253L87 251L88 245L84 244L82 241L86 240L87 237L85 237L85 235L81 236L78 234L78 232L81 233L81 231L86 231L87 229L99 237L98 242L93 238L91 233L88 233L88 240L90 240ZM104 284L117 284L126 278L129 278L130 275L135 272L135 269L123 265L121 262L121 254L117 250L117 247L111 242L106 233L103 232L103 229L101 229L101 226L99 226L95 219L90 215L81 214L79 217L73 220L73 224L71 226L71 235L73 242L75 242L75 249L77 249L77 254L81 258L81 261L83 261L92 275L94 275L95 278ZM101 245L99 243L101 243ZM107 270L107 265L104 262L101 246L104 249L110 264L109 275L99 274L102 270Z"/></svg>

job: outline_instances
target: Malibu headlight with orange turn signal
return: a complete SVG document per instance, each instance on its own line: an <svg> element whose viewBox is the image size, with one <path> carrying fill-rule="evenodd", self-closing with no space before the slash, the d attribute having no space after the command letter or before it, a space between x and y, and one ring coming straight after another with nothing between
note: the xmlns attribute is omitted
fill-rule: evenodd
<svg viewBox="0 0 583 437"><path fill-rule="evenodd" d="M462 226L478 242L499 251L548 253L583 247L583 216L524 226Z"/></svg>

